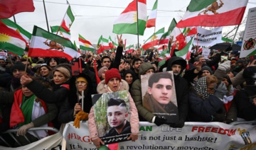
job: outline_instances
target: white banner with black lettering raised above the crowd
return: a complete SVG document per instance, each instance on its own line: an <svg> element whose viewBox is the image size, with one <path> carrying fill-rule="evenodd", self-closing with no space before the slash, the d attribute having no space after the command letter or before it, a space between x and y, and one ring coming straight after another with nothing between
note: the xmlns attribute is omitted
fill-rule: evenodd
<svg viewBox="0 0 256 150"><path fill-rule="evenodd" d="M210 47L217 43L223 42L221 40L223 27L214 28L213 30L206 30L204 28L197 27L197 35L193 40L193 45ZM191 37L186 37L186 40Z"/></svg>

